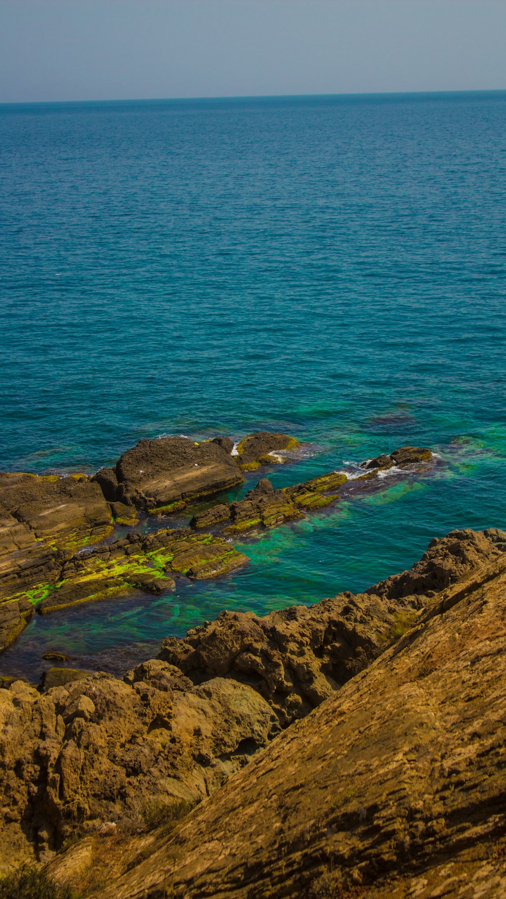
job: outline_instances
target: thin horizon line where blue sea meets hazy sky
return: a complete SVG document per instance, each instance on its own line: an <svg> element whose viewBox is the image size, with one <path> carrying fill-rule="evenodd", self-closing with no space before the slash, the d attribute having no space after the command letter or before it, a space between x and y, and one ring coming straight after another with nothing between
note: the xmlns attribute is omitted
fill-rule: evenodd
<svg viewBox="0 0 506 899"><path fill-rule="evenodd" d="M194 97L138 97L138 98L110 98L108 100L0 100L0 106L42 106L42 105L64 105L69 103L149 103L149 102L212 102L221 100L289 100L322 97L400 97L400 96L418 96L433 94L456 94L456 93L506 93L504 87L492 88L466 88L465 90L429 90L429 91L349 91L347 93L243 93L243 94L221 94L212 96L194 96Z"/></svg>

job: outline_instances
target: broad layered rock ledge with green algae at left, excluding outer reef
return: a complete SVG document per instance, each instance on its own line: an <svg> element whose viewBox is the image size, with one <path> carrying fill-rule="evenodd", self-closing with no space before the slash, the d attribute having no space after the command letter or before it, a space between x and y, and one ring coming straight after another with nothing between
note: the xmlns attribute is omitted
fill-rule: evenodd
<svg viewBox="0 0 506 899"><path fill-rule="evenodd" d="M255 454L258 447L281 449L293 440L262 432L242 442ZM158 593L174 585L171 573L219 577L246 564L246 556L224 540L187 529L149 538L133 533L103 545L115 526L135 527L138 510L171 514L241 484L233 449L228 438L199 443L167 437L140 441L94 477L0 473L0 651L35 609L132 589ZM276 459L263 464L270 462Z"/></svg>

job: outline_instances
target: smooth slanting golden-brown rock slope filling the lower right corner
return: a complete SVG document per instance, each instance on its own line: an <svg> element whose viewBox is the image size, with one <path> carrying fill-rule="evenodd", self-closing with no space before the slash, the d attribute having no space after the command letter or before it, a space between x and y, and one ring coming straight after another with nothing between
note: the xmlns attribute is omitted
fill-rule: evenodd
<svg viewBox="0 0 506 899"><path fill-rule="evenodd" d="M505 598L498 554L94 895L506 895Z"/></svg>

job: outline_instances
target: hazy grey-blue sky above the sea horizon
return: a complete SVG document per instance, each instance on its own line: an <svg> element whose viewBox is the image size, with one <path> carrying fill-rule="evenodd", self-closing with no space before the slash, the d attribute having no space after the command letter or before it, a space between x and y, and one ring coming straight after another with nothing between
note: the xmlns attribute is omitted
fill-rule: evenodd
<svg viewBox="0 0 506 899"><path fill-rule="evenodd" d="M506 0L0 0L0 102L506 88Z"/></svg>

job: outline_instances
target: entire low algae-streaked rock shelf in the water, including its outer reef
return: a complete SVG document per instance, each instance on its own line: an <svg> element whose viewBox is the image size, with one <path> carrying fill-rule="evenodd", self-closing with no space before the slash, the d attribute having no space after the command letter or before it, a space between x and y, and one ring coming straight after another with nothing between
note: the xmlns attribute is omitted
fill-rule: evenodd
<svg viewBox="0 0 506 899"><path fill-rule="evenodd" d="M35 611L44 615L132 591L156 597L174 590L175 578L230 574L248 564L230 539L254 538L349 496L374 492L385 475L395 483L414 473L428 475L441 464L430 449L404 447L390 457L366 459L357 470L284 488L260 477L242 499L226 502L227 491L244 483L244 473L263 475L297 447L294 437L270 432L249 435L237 447L227 438L160 438L140 441L116 467L92 477L0 476L2 647L14 643ZM131 530L140 518L144 526ZM164 527L155 530L155 522Z"/></svg>

